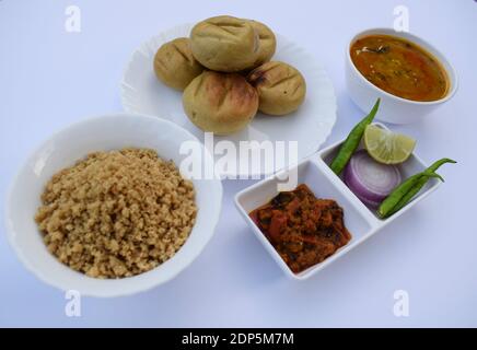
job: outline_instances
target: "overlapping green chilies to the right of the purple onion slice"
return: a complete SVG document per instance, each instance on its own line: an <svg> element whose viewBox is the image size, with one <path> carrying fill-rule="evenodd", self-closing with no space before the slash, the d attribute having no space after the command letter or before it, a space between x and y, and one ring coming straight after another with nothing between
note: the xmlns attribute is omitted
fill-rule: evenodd
<svg viewBox="0 0 477 350"><path fill-rule="evenodd" d="M408 179L404 180L381 203L380 208L377 209L377 214L380 218L387 218L405 207L427 184L430 177L438 177L443 182L444 179L437 174L435 171L445 163L456 162L444 158L433 163L423 172L412 175Z"/></svg>

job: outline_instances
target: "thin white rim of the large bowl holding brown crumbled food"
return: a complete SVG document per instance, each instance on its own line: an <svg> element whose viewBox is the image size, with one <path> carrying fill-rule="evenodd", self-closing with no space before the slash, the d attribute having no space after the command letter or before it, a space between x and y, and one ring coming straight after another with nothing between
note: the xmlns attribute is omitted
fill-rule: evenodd
<svg viewBox="0 0 477 350"><path fill-rule="evenodd" d="M172 122L171 120L167 120L167 119L164 119L164 118L161 118L161 117L156 117L156 116L149 116L149 115L143 115L143 114L127 113L127 112L119 112L119 113L105 114L105 115L97 115L97 116L88 117L88 118L85 118L85 119L81 119L81 120L78 120L78 121L73 121L72 124L69 124L69 125L67 125L66 127L62 127L62 128L56 130L56 131L53 132L50 136L48 136L46 139L44 139L40 143L38 143L37 145L35 145L35 147L30 151L30 153L28 153L28 155L26 156L26 159L21 163L21 165L20 165L19 170L16 171L16 173L13 175L13 178L12 178L12 180L10 182L10 185L9 185L9 187L8 187L8 190L7 190L5 202L4 202L4 203L5 203L5 210L4 210L4 222L5 222L5 224L4 224L4 226L5 226L5 229L7 229L7 241L9 242L10 246L11 246L12 249L14 250L14 253L15 253L18 259L19 259L19 260L21 261L21 264L26 268L27 271L30 271L32 275L34 275L38 280L40 280L40 281L44 282L45 284L50 285L50 287L54 287L54 288L59 289L59 290L61 290L61 291L65 291L65 285L62 285L61 283L57 283L56 281L46 278L45 272L37 270L37 269L36 269L36 268L31 264L31 261L30 261L30 260L24 256L23 252L20 249L20 247L16 245L16 243L15 243L14 240L13 240L14 230L13 230L13 228L12 228L12 225L11 225L11 223L10 223L10 219L9 219L9 218L10 218L10 206L9 206L9 203L10 203L10 201L11 201L11 197L12 197L12 195L13 195L13 189L18 186L18 180L19 180L20 174L24 171L25 167L27 167L27 164L31 162L31 160L34 158L34 155L38 152L38 150L42 149L42 148L43 148L46 143L48 143L50 140L53 140L53 139L56 138L57 136L61 135L62 132L67 132L67 131L69 131L70 129L73 129L73 128L75 128L75 127L78 127L78 126L85 125L85 124L89 124L89 122L91 122L91 121L95 121L95 120L98 120L98 119L116 119L116 118L118 118L118 117L144 118L144 119L150 119L150 120L151 120L151 119L152 119L152 120L158 120L158 119L159 119L160 121L163 121L163 122L165 122L165 124L168 124L168 125L172 126L173 128L177 128L177 129L182 130L182 131L185 132L188 137L190 137L193 140L199 142L199 143L202 145L202 148L206 150L206 152L208 152L208 150L203 147L203 143L200 142L200 140L197 139L197 138L196 138L191 132L189 132L188 130L182 128L181 126L178 126L178 125ZM223 197L223 187L222 187L222 182L220 180L219 177L217 177L216 174L213 175L213 178L214 178L216 180L218 180L218 185L219 185L219 187L218 187L218 189L219 189L219 195L220 195L220 198L222 199L222 197ZM206 246L209 244L210 240L211 240L212 236L214 235L214 232L216 232L217 225L218 225L218 223L219 223L220 213L221 213L221 210L222 210L222 200L220 200L220 201L218 202L217 206L218 206L218 211L217 211L216 215L212 217L212 218L209 218L209 220L208 220L209 222L212 222L212 228L211 228L212 233L207 237L205 244L203 244L199 249L197 249L197 250L194 253L191 259L190 259L189 261L187 261L187 264L185 264L185 265L184 265L184 266L183 266L183 267L182 267L182 268L181 268L176 273L173 273L173 275L171 275L168 278L164 279L160 284L164 284L164 283L166 283L166 282L173 280L173 279L174 279L175 277L177 277L181 272L183 272L185 269L187 269L187 268L188 268L188 267L194 262L194 260L196 260L197 257L202 253L202 250L206 248ZM178 252L178 250L177 250L177 252ZM57 261L57 262L58 262L58 264L61 264L60 261ZM67 267L68 267L68 266L67 266ZM69 268L69 267L68 267L68 268ZM155 268L158 268L158 267L155 267ZM144 273L148 273L148 272L150 272L150 271L153 271L155 268L153 268L153 269L151 269L151 270L149 270L149 271L146 271L146 272L142 272L142 273L136 275L136 276L128 277L128 279L133 279L135 277L142 276L142 275L144 275ZM70 269L70 268L69 268L69 269ZM73 269L71 269L71 272L77 272L77 271L74 271ZM93 279L94 279L94 278L93 278ZM96 280L98 283L101 283L102 281L110 282L110 279L105 279L105 280L102 280L102 279L94 279L94 280ZM121 279L118 279L117 281L120 281L120 280L121 280ZM153 288L155 288L155 287L158 287L158 285L160 285L160 284L158 284L158 283L151 283L150 285L148 285L148 287L146 287L146 288L136 288L136 289L132 288L132 289L130 289L130 290L128 290L128 291L126 291L126 292L115 291L115 292L112 292L112 293L104 293L104 292L98 292L98 293L96 293L96 292L91 292L91 291L89 291L89 292L81 291L81 294L82 294L83 296L94 296L94 298L118 298L118 296L127 296L127 295L133 295L133 294L137 294L137 293L142 293L142 292L146 292L146 291L148 291L148 290L151 290L151 289L153 289Z"/></svg>

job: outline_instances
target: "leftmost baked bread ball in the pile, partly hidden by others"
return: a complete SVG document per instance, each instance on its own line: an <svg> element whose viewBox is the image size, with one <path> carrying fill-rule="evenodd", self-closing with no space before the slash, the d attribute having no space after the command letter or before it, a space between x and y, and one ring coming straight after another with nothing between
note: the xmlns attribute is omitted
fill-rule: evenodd
<svg viewBox="0 0 477 350"><path fill-rule="evenodd" d="M155 75L173 89L183 91L202 71L203 67L194 58L187 37L168 42L155 52Z"/></svg>

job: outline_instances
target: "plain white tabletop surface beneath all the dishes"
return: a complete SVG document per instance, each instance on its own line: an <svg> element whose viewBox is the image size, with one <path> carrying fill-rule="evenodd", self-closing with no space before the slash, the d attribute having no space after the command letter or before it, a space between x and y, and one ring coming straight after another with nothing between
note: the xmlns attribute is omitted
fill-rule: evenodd
<svg viewBox="0 0 477 350"><path fill-rule="evenodd" d="M65 32L65 9L82 10L82 32ZM326 67L338 96L328 144L362 114L345 88L348 39L392 26L402 1L0 1L0 197L27 154L53 131L121 108L118 84L132 50L177 23L232 13L256 18L306 47ZM27 272L0 229L3 326L477 326L475 136L477 69L473 0L404 2L410 31L452 61L459 90L432 119L393 127L442 167L445 184L393 224L314 278L287 279L242 220L233 196L253 182L224 182L223 212L210 244L174 281L143 294L82 300L65 316L65 294ZM0 213L4 201L0 201ZM0 214L3 220L3 214ZM396 290L409 317L393 314Z"/></svg>

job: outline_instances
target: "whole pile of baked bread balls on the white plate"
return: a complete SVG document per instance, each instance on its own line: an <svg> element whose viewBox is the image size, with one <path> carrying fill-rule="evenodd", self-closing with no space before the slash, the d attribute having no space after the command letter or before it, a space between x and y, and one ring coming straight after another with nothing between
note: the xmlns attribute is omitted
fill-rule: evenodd
<svg viewBox="0 0 477 350"><path fill-rule="evenodd" d="M220 15L197 23L190 37L162 45L154 71L184 91L184 110L198 128L228 135L245 128L260 110L280 116L303 103L306 83L290 65L270 61L277 47L265 24Z"/></svg>

